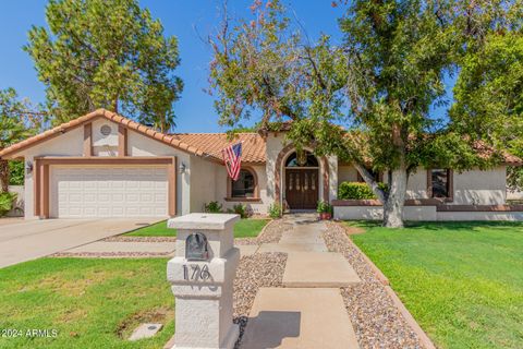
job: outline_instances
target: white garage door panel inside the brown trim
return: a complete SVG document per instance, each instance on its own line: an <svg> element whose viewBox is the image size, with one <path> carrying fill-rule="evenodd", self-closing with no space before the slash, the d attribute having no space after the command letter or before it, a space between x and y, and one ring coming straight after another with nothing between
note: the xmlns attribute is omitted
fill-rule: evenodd
<svg viewBox="0 0 523 349"><path fill-rule="evenodd" d="M51 167L51 216L167 217L166 167Z"/></svg>

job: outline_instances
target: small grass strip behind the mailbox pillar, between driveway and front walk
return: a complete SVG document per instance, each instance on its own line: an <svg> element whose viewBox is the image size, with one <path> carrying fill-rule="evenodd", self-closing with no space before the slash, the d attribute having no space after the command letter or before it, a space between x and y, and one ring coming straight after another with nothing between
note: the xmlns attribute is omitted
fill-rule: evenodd
<svg viewBox="0 0 523 349"><path fill-rule="evenodd" d="M267 225L268 219L240 219L234 225L234 238L255 238ZM127 237L175 237L175 229L167 228L167 220L127 232Z"/></svg>

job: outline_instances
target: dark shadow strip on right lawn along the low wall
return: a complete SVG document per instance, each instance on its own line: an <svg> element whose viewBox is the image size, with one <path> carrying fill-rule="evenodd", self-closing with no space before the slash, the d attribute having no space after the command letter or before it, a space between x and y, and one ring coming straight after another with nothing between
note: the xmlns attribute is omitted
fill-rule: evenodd
<svg viewBox="0 0 523 349"><path fill-rule="evenodd" d="M348 220L350 226L364 229L380 228L380 220ZM496 229L523 229L523 221L405 221L405 228L410 230L477 230L483 228Z"/></svg>

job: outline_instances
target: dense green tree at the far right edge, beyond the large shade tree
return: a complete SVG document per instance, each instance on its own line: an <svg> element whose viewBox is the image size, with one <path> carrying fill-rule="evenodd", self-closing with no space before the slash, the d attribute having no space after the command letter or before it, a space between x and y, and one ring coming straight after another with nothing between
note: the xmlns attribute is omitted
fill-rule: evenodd
<svg viewBox="0 0 523 349"><path fill-rule="evenodd" d="M521 28L520 28L521 31ZM451 116L457 128L523 157L523 33L488 31L462 59ZM508 185L523 188L523 169L508 169Z"/></svg>

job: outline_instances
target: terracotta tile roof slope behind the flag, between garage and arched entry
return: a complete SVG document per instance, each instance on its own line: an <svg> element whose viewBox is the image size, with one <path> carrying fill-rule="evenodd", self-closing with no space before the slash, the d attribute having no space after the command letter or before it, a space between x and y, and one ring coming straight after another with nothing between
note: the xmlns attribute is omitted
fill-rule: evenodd
<svg viewBox="0 0 523 349"><path fill-rule="evenodd" d="M236 133L232 140L226 133L175 133L173 137L191 144L220 161L221 149L242 142L242 163L265 164L266 142L258 133Z"/></svg>

